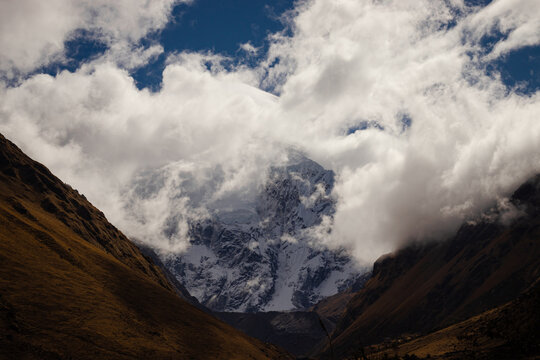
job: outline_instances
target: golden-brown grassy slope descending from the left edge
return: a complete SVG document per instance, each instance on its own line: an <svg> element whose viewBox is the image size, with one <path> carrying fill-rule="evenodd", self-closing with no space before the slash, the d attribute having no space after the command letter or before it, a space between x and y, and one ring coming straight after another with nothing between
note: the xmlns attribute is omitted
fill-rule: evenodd
<svg viewBox="0 0 540 360"><path fill-rule="evenodd" d="M280 357L180 299L103 214L0 135L0 358Z"/></svg>

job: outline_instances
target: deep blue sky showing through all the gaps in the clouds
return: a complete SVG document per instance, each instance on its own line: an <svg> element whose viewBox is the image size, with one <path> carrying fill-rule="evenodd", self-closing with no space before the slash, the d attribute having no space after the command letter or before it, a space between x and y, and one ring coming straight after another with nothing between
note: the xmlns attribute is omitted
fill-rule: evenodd
<svg viewBox="0 0 540 360"><path fill-rule="evenodd" d="M469 5L478 7L485 7L491 2L467 1ZM282 21L282 15L293 8L292 0L196 0L177 4L164 29L141 39L142 44L161 44L164 52L146 66L132 71L131 75L138 88L157 91L166 57L181 51L211 51L228 56L234 62L255 66L266 54L268 35L289 30ZM483 45L490 49L505 35L494 32L483 39ZM240 44L248 42L259 49L256 56L240 49ZM78 31L73 39L65 42L65 49L68 62L50 64L36 73L55 74L64 69L75 71L81 63L103 54L107 46L93 40L92 34ZM500 74L509 88L517 88L524 94L540 89L540 46L520 48L484 65L489 74Z"/></svg>

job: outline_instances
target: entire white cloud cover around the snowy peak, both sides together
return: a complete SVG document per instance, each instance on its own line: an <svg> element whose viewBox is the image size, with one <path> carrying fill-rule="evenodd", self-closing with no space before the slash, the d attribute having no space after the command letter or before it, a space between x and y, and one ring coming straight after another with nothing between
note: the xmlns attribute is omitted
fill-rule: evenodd
<svg viewBox="0 0 540 360"><path fill-rule="evenodd" d="M75 72L4 83L0 131L158 248L181 251L189 219L250 201L290 147L337 174L335 217L315 235L364 262L448 235L540 171L540 94L486 72L540 45L536 0L300 2L286 15L292 36L273 34L257 67L170 54L155 93L128 70L162 51L139 41L165 26L173 1L56 1L36 15L39 3L0 2L13 22L1 72L55 61L77 29L109 50ZM42 37L21 42L17 16L35 16ZM487 47L493 34L504 36Z"/></svg>

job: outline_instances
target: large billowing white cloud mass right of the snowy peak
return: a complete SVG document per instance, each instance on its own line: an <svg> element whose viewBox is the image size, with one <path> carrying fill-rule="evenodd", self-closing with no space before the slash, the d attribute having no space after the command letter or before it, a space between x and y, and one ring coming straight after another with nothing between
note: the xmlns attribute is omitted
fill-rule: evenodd
<svg viewBox="0 0 540 360"><path fill-rule="evenodd" d="M288 133L303 135L288 141L338 173L338 209L324 241L373 259L411 238L439 238L539 170L538 94L508 93L476 56L493 24L538 31L538 13L527 4L537 6L304 5L294 36L270 51L270 61L286 65L269 79L286 78L280 110L296 119ZM505 46L532 42L516 36ZM343 136L366 122L377 126Z"/></svg>

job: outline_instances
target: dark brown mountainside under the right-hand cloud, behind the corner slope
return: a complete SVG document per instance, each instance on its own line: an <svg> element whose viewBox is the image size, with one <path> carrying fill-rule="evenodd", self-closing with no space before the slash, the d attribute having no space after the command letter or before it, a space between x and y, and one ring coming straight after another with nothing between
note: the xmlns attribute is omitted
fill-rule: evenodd
<svg viewBox="0 0 540 360"><path fill-rule="evenodd" d="M377 261L337 325L336 353L429 333L517 297L540 275L540 182L534 181L532 193L514 199L527 203L529 216L512 226L465 225L449 241L413 245Z"/></svg>

